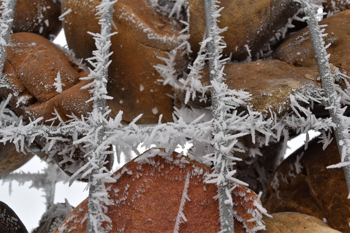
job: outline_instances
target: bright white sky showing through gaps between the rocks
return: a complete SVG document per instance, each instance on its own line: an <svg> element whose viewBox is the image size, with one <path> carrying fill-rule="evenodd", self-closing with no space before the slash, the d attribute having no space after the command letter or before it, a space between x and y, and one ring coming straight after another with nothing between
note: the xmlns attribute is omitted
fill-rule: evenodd
<svg viewBox="0 0 350 233"><path fill-rule="evenodd" d="M66 40L63 30L58 34L54 43L61 46L66 45ZM318 132L312 130L309 131L310 140L311 138L318 136ZM300 135L292 140L288 141L288 147L286 150L285 157L288 157L296 149L302 146L305 142L305 134ZM140 152L144 151L145 148L140 148ZM115 159L117 161L117 159ZM112 171L117 171L122 165L124 165L123 159L121 164L115 162ZM38 157L33 157L28 163L23 165L15 172L30 172L36 173L42 171L46 166L45 162L41 161ZM1 180L0 180L1 182ZM0 183L0 185L2 182ZM12 194L9 195L9 184L4 183L0 186L0 201L8 204L19 216L27 230L30 232L38 225L38 222L45 212L45 198L43 197L42 189L29 188L31 182L25 183L25 185L19 186L18 182L12 182ZM59 182L56 184L55 199L54 202L64 202L64 198L67 198L69 203L73 206L77 206L82 202L88 195L87 191L83 191L86 184L83 182L75 181L71 187L68 187L68 183L63 184Z"/></svg>

